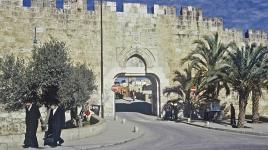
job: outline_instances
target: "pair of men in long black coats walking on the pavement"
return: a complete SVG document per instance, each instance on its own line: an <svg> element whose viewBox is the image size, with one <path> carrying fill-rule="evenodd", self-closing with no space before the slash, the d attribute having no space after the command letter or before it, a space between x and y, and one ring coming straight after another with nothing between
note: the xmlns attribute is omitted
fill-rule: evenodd
<svg viewBox="0 0 268 150"><path fill-rule="evenodd" d="M55 98L48 105L47 118L45 124L44 145L51 147L60 146L64 140L61 138L61 130L65 126L64 107L59 105L59 100ZM26 134L24 140L24 148L38 148L36 132L41 114L38 106L31 100L25 101L26 106Z"/></svg>

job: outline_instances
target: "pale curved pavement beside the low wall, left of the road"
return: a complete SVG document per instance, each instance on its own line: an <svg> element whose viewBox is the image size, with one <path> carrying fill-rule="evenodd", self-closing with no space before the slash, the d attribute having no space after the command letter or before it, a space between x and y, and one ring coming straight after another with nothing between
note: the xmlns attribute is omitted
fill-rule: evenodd
<svg viewBox="0 0 268 150"><path fill-rule="evenodd" d="M43 143L39 143L41 149L53 149L53 150L89 150L99 149L102 147L119 145L126 142L130 142L141 137L143 134L141 131L134 131L134 124L128 122L125 119L117 119L114 121L112 118L106 119L107 129L100 135L96 135L89 138L78 139L74 141L65 141L62 146L51 148L49 146L43 146ZM137 128L135 128L137 129ZM64 131L63 131L64 132ZM20 150L23 148L14 148L11 150Z"/></svg>

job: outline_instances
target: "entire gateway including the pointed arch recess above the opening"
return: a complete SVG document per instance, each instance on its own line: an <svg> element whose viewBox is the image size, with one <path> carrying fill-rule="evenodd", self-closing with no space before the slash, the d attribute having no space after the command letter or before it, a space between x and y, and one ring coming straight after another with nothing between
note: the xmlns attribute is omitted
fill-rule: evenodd
<svg viewBox="0 0 268 150"><path fill-rule="evenodd" d="M147 72L147 59L131 53L123 60L122 70L114 77L115 112L140 112L160 115L160 80ZM150 61L149 61L150 62Z"/></svg>

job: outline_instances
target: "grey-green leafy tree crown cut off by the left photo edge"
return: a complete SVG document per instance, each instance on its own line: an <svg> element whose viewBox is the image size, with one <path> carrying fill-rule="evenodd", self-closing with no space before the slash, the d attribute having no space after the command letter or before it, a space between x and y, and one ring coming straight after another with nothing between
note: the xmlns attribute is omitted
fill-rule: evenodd
<svg viewBox="0 0 268 150"><path fill-rule="evenodd" d="M0 60L0 71L0 102L8 111L20 109L27 95L24 60L6 56Z"/></svg>

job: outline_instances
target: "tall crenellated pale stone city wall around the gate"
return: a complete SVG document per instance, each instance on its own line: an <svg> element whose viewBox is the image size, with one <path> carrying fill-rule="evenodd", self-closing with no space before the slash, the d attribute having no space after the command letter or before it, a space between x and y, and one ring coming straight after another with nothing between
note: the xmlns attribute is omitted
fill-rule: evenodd
<svg viewBox="0 0 268 150"><path fill-rule="evenodd" d="M47 4L48 5L48 4ZM68 3L66 9L36 3L22 7L22 0L0 1L0 56L15 53L31 58L33 40L37 45L54 37L66 42L74 63L88 64L97 77L100 100L100 5L94 11L85 9L85 1ZM66 4L67 5L67 4ZM116 3L103 4L104 104L113 109L111 84L116 73L124 70L122 62L129 53L141 53L150 62L148 73L155 73L161 82L161 106L167 101L162 90L172 82L173 71L181 70L180 60L195 48L193 41L203 35L219 32L224 43L235 41L258 42L267 45L262 31L250 30L247 38L240 29L226 29L221 18L205 17L201 8L185 6L176 16L176 8L154 5L154 13L147 13L145 4L125 3L123 12L116 12ZM35 30L36 29L36 30ZM36 37L35 37L36 31ZM126 52L126 55L122 55ZM153 59L150 59L153 58ZM120 71L118 71L120 70ZM115 73L115 74L113 74ZM265 96L264 99L267 99ZM267 103L261 105L268 110ZM268 114L268 111L264 111Z"/></svg>

